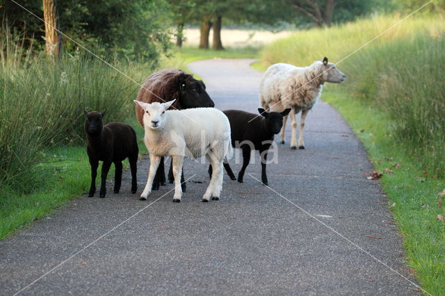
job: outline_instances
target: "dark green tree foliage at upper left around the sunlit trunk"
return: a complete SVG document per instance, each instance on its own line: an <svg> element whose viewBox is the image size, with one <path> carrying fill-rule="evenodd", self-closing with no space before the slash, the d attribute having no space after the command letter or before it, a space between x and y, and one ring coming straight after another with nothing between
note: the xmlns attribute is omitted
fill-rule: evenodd
<svg viewBox="0 0 445 296"><path fill-rule="evenodd" d="M43 18L41 0L19 1ZM161 54L170 49L172 13L165 0L69 0L58 1L60 31L102 56L152 61L156 67ZM0 8L3 22L32 40L36 50L44 44L43 22L17 4L6 1ZM100 44L100 47L97 47ZM65 51L74 54L77 45L63 38Z"/></svg>

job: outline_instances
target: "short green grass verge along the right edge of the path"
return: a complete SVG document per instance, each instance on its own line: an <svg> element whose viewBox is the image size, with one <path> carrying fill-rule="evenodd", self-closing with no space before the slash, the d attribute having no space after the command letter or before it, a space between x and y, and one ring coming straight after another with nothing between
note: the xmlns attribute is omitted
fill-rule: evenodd
<svg viewBox="0 0 445 296"><path fill-rule="evenodd" d="M376 112L375 106L339 90L324 90L323 99L340 111L362 140L375 170L384 172L382 188L403 234L407 262L421 286L432 295L444 295L445 223L437 220L437 215L444 214L445 206L437 206L439 199L444 199L437 194L445 182L427 178L419 162L401 153L391 137L387 113ZM387 169L392 174L385 172Z"/></svg>

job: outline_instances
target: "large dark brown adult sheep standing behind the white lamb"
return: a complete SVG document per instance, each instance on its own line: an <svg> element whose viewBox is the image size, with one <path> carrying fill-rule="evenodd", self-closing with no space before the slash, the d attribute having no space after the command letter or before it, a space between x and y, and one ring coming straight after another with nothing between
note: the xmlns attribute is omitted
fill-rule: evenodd
<svg viewBox="0 0 445 296"><path fill-rule="evenodd" d="M163 69L156 72L145 80L143 87L138 92L136 101L152 104L154 102L165 103L176 99L175 104L170 109L188 109L199 107L214 107L215 104L206 92L206 85L202 81L193 78L181 69ZM144 110L136 104L136 117L142 127ZM171 173L170 173L171 172ZM169 183L173 183L172 166L170 164L170 172L168 174ZM184 174L181 176L184 181ZM153 181L153 190L159 190L159 184L165 185L165 169L164 160L156 171ZM182 190L186 191L186 184L181 184Z"/></svg>

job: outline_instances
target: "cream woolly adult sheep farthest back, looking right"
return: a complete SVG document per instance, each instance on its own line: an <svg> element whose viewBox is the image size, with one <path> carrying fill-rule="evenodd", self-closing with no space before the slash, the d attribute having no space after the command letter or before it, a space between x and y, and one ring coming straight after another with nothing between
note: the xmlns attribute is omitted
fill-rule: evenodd
<svg viewBox="0 0 445 296"><path fill-rule="evenodd" d="M309 67L278 63L271 65L264 73L259 86L259 103L266 110L281 112L291 108L289 116L292 121L291 149L297 149L297 123L295 115L301 110L300 137L298 147L305 149L303 128L309 110L314 107L321 96L325 82L343 83L345 74L341 73L334 63L316 60ZM283 118L280 142L284 144L287 116Z"/></svg>

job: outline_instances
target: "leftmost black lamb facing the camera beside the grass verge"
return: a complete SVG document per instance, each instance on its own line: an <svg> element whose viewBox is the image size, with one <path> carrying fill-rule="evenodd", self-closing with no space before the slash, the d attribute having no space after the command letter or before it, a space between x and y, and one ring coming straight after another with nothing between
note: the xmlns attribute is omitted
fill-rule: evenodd
<svg viewBox="0 0 445 296"><path fill-rule="evenodd" d="M106 194L106 176L110 170L111 163L115 165L114 192L119 193L122 181L122 161L129 158L131 169L131 193L136 193L138 183L136 182L136 163L138 161L138 143L136 133L131 126L122 122L102 123L105 111L90 112L83 110L85 114L85 131L88 158L91 165L91 187L89 197L95 195L96 176L99 161L102 163L102 183L100 186L100 197Z"/></svg>

